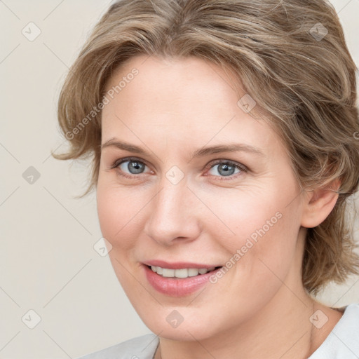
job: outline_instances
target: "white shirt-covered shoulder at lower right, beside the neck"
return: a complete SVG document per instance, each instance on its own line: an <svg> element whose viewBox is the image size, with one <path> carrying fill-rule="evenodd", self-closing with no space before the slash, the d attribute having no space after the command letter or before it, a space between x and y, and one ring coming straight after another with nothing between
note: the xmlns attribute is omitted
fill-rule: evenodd
<svg viewBox="0 0 359 359"><path fill-rule="evenodd" d="M309 359L359 358L359 304L345 307L344 314L323 344Z"/></svg>

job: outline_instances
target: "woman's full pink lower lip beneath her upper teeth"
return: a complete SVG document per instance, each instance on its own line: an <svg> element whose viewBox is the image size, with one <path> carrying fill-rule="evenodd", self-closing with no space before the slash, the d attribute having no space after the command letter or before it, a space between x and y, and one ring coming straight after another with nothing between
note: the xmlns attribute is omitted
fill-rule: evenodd
<svg viewBox="0 0 359 359"><path fill-rule="evenodd" d="M166 278L152 271L148 266L144 265L147 280L155 290L172 297L184 297L193 294L203 285L208 283L210 276L215 274L219 269L210 271L194 277L187 278Z"/></svg>

